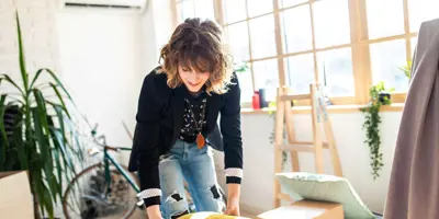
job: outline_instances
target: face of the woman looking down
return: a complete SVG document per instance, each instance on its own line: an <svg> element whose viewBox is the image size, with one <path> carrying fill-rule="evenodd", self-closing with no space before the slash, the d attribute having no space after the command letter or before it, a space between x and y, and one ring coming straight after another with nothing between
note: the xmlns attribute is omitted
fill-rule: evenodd
<svg viewBox="0 0 439 219"><path fill-rule="evenodd" d="M184 85L191 92L199 92L211 76L209 71L196 72L193 68L185 68L181 65L179 65L178 71Z"/></svg>

